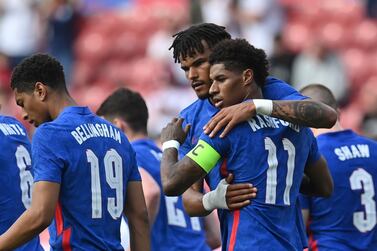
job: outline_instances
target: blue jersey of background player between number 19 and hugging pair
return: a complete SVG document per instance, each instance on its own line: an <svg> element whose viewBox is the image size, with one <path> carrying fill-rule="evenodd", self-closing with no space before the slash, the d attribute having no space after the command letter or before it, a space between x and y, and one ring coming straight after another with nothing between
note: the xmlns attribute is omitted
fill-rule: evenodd
<svg viewBox="0 0 377 251"><path fill-rule="evenodd" d="M146 170L160 190L160 208L152 226L154 251L209 251L203 219L190 217L183 208L182 197L168 197L162 192L160 175L161 150L150 139L133 141L139 168Z"/></svg>

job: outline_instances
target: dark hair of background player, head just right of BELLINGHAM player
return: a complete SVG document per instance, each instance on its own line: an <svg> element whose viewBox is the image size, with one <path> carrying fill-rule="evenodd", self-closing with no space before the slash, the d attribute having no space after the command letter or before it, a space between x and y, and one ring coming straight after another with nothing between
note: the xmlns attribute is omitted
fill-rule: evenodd
<svg viewBox="0 0 377 251"><path fill-rule="evenodd" d="M119 88L107 97L97 115L110 120L120 117L134 132L147 132L147 105L138 92L128 88Z"/></svg>

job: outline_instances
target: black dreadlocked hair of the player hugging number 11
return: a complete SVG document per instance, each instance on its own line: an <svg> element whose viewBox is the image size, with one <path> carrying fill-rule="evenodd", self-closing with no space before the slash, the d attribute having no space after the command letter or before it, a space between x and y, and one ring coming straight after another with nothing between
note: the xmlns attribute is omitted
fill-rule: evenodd
<svg viewBox="0 0 377 251"><path fill-rule="evenodd" d="M179 57L186 58L194 56L196 53L203 53L205 41L208 48L212 48L224 39L230 39L230 34L225 27L213 23L203 23L192 25L186 30L173 35L174 41L169 50L173 48L174 62L180 63Z"/></svg>

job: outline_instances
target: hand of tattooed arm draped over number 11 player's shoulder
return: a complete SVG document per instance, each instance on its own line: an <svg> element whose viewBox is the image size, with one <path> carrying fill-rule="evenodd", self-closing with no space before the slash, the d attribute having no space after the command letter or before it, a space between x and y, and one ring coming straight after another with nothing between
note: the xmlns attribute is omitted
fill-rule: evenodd
<svg viewBox="0 0 377 251"><path fill-rule="evenodd" d="M256 110L253 102L244 102L225 107L204 126L204 133L209 134L212 138L224 128L224 131L220 134L220 138L223 138L234 126L251 119L255 115Z"/></svg>

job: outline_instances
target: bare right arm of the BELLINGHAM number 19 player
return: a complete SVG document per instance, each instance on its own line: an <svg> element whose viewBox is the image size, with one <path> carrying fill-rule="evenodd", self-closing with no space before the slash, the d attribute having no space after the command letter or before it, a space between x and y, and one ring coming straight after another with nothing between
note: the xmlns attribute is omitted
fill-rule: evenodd
<svg viewBox="0 0 377 251"><path fill-rule="evenodd" d="M150 229L143 188L140 181L129 181L124 214L130 229L132 251L150 250Z"/></svg>

